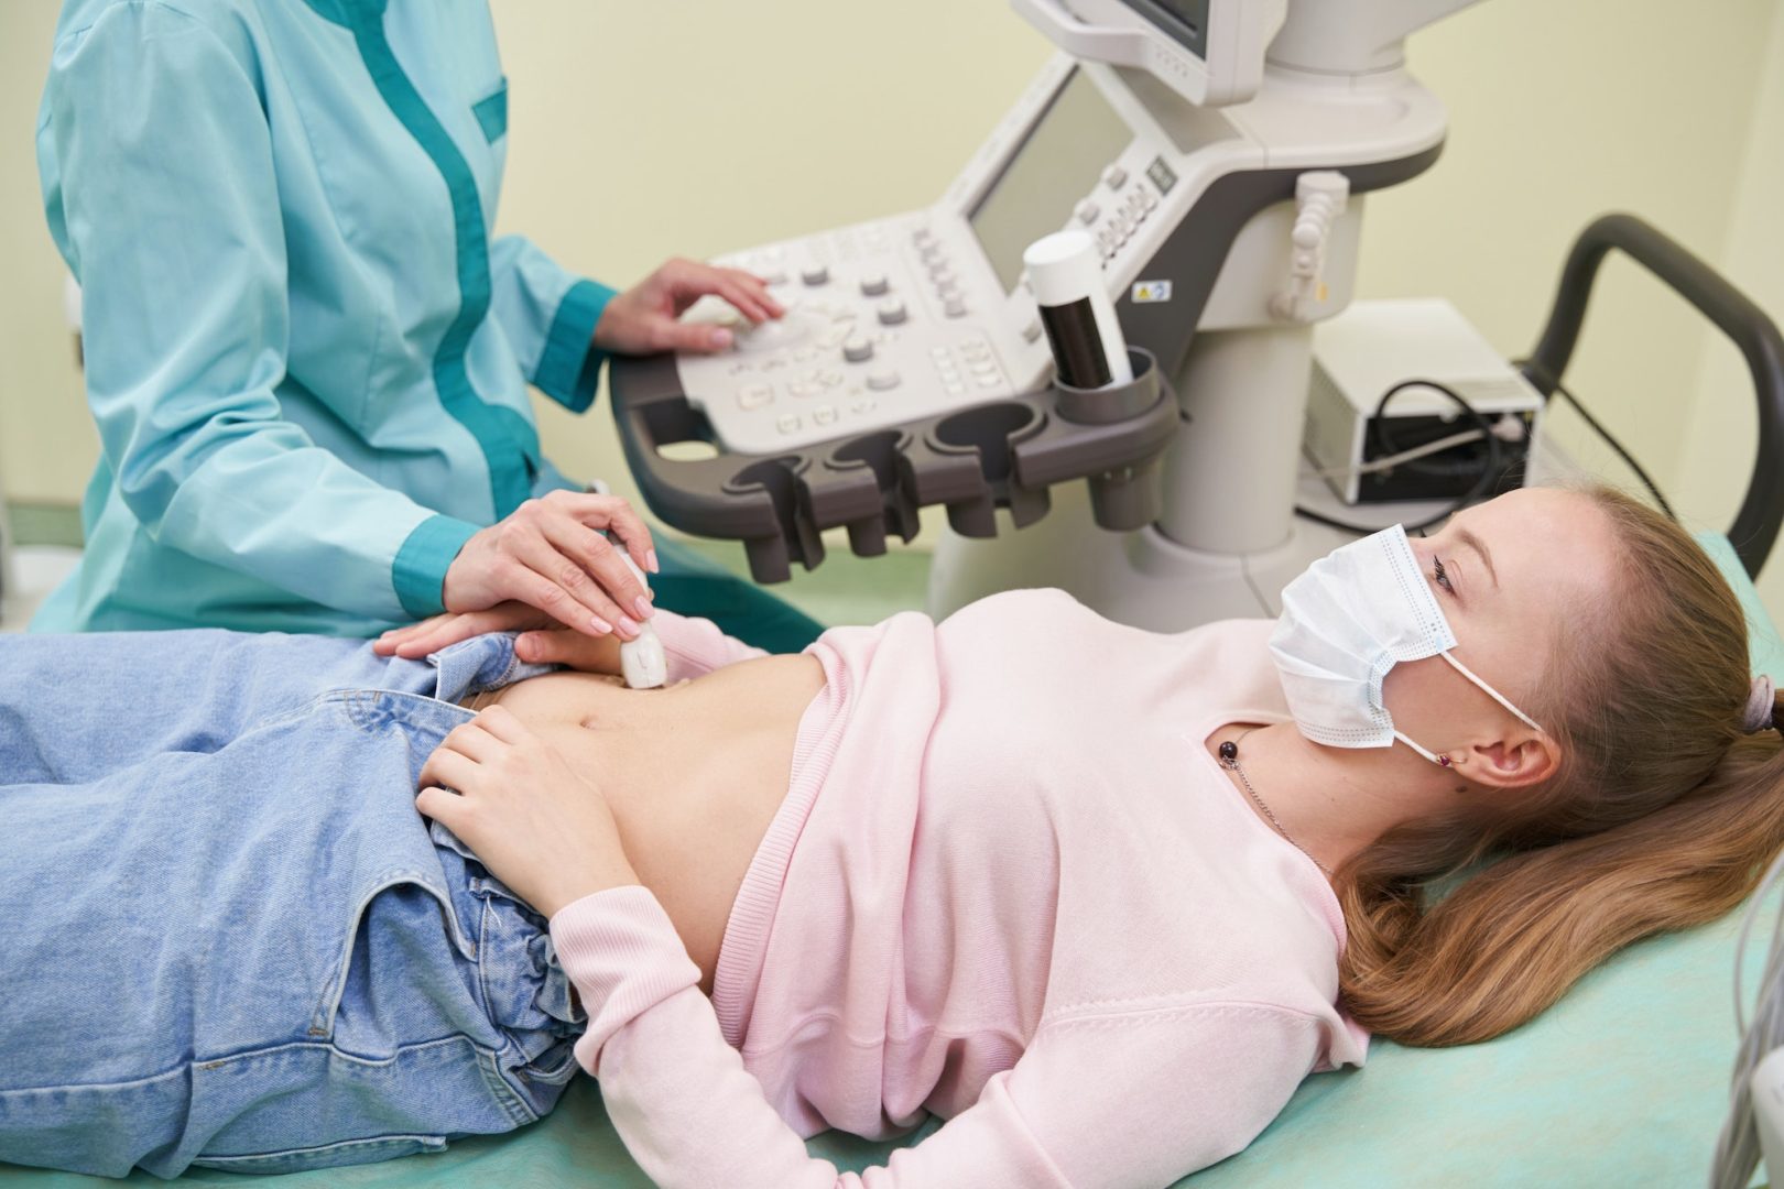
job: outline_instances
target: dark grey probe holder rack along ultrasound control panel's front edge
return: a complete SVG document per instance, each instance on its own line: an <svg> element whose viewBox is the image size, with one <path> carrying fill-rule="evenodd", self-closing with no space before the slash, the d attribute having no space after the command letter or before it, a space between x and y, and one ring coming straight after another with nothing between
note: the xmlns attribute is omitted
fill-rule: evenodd
<svg viewBox="0 0 1784 1189"><path fill-rule="evenodd" d="M1179 421L1177 399L1151 351L1129 348L1129 383L1037 392L967 405L904 424L774 455L665 458L676 442L714 444L689 405L674 357L614 360L614 419L632 474L665 524L740 540L758 583L785 581L792 563L824 560L821 533L842 526L860 556L887 535L917 535L917 512L944 504L962 537L995 537L995 510L1017 528L1051 506L1047 488L1090 481L1099 526L1136 529L1160 515L1160 458Z"/></svg>

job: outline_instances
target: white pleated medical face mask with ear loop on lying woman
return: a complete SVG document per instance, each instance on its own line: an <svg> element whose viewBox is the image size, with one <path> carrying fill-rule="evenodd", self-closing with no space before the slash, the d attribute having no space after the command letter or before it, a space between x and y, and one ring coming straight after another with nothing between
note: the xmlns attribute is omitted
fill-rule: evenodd
<svg viewBox="0 0 1784 1189"><path fill-rule="evenodd" d="M1302 734L1331 747L1393 747L1399 740L1445 768L1450 758L1397 731L1381 701L1381 683L1397 661L1441 656L1532 731L1541 731L1450 656L1454 647L1456 633L1399 524L1334 549L1288 583L1283 615L1270 633L1270 656Z"/></svg>

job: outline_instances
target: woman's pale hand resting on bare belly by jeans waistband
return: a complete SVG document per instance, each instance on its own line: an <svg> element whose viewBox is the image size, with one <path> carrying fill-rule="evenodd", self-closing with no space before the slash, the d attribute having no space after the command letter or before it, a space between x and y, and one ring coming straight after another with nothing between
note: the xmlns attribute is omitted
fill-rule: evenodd
<svg viewBox="0 0 1784 1189"><path fill-rule="evenodd" d="M546 918L639 882L598 784L505 706L455 727L428 756L416 808Z"/></svg>

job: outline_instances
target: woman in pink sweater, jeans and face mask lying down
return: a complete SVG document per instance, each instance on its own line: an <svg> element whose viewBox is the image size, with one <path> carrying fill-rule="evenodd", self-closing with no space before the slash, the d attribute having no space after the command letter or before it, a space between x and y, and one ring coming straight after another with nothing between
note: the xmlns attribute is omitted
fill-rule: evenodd
<svg viewBox="0 0 1784 1189"><path fill-rule="evenodd" d="M375 1160L582 1066L664 1185L1163 1185L1784 841L1739 608L1609 492L1363 538L1274 626L657 622L664 692L532 631L0 642L0 1159ZM928 1112L860 1178L799 1143Z"/></svg>

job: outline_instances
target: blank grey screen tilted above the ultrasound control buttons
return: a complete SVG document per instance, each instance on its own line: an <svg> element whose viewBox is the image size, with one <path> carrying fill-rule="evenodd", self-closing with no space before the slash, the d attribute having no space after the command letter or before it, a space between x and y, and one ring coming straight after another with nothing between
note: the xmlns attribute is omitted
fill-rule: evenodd
<svg viewBox="0 0 1784 1189"><path fill-rule="evenodd" d="M1004 291L1022 276L1022 251L1058 232L1085 198L1103 166L1115 160L1133 130L1115 114L1097 84L1072 70L1010 164L967 216Z"/></svg>

